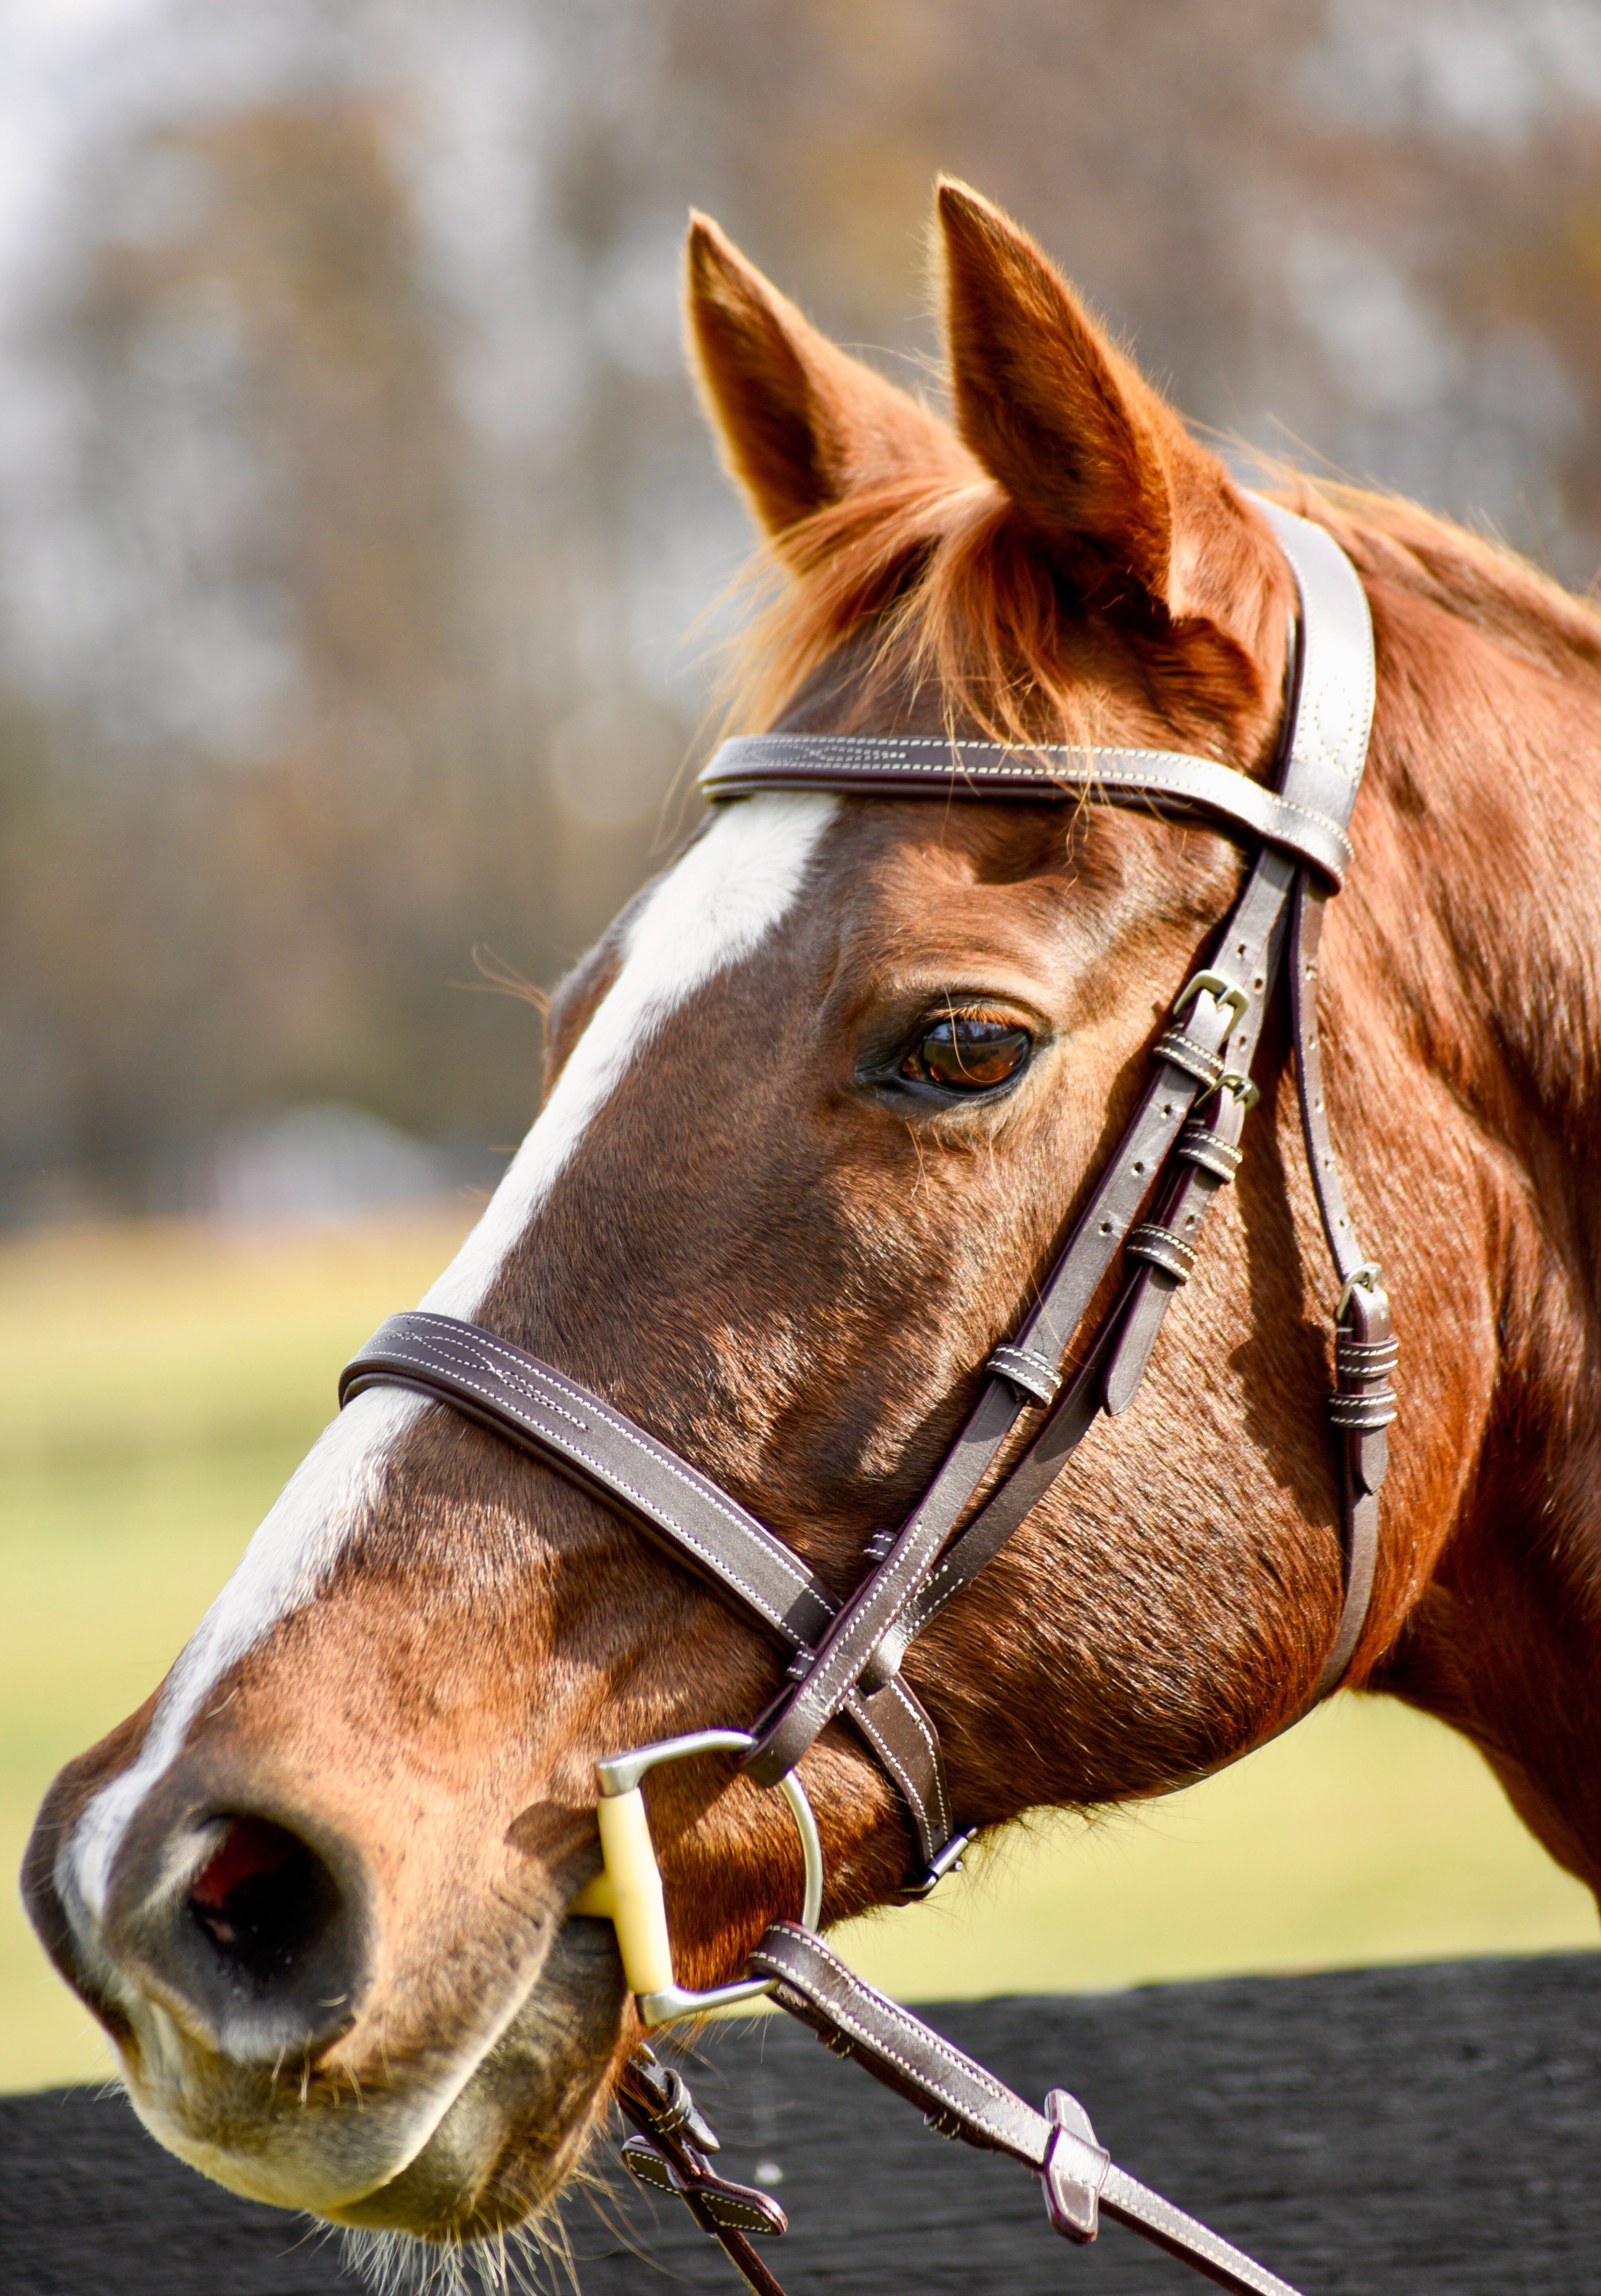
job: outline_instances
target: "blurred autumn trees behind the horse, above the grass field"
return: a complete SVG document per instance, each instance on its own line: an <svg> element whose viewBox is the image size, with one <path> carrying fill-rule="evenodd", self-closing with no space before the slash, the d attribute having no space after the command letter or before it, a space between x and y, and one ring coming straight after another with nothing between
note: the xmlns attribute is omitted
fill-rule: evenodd
<svg viewBox="0 0 1601 2296"><path fill-rule="evenodd" d="M967 174L1197 420L1601 558L1592 0L163 0L138 62L0 342L11 1212L312 1097L521 1132L471 951L549 980L652 866L747 540L691 202L937 388Z"/></svg>

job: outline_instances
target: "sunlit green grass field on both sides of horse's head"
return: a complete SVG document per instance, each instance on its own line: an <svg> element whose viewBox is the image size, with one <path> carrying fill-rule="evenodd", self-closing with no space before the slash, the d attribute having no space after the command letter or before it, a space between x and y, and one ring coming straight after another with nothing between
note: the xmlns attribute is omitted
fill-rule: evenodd
<svg viewBox="0 0 1601 2296"><path fill-rule="evenodd" d="M158 1681L328 1417L338 1366L418 1297L469 1217L0 1244L11 1869L53 1770ZM1587 1892L1461 1740L1351 1697L1206 1786L1091 1828L1041 1823L933 1903L838 1938L914 2000L1601 1942ZM7 1890L0 2089L106 2071Z"/></svg>

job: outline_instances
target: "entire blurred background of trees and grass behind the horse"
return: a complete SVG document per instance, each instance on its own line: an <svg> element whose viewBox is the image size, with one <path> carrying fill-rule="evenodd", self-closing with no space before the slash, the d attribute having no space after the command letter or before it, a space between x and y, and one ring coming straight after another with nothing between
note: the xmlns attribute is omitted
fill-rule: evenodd
<svg viewBox="0 0 1601 2296"><path fill-rule="evenodd" d="M965 174L1197 422L1583 588L1599 163L1601 0L0 0L7 1857L526 1127L503 987L689 820L749 530L685 209L933 388ZM1346 1706L864 1956L949 1993L1594 1940L1465 1750ZM0 2085L90 2076L5 1922Z"/></svg>

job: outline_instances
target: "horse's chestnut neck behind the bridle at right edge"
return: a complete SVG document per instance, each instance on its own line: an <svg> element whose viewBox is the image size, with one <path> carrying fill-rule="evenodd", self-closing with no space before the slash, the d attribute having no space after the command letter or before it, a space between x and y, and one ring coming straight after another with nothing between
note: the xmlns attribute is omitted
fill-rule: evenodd
<svg viewBox="0 0 1601 2296"><path fill-rule="evenodd" d="M1408 602L1378 622L1383 806L1351 930L1390 1003L1376 1185L1413 1295L1394 1440L1426 1453L1392 1536L1426 1584L1376 1681L1465 1729L1596 1887L1601 675Z"/></svg>

